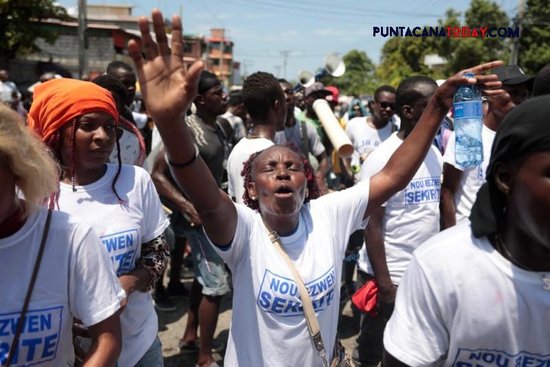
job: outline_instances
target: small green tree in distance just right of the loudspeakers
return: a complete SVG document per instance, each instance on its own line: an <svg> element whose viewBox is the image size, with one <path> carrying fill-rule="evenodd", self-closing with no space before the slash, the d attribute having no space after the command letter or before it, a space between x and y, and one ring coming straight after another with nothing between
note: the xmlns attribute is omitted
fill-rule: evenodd
<svg viewBox="0 0 550 367"><path fill-rule="evenodd" d="M333 85L340 89L340 93L350 96L360 96L364 93L373 93L376 89L374 82L375 65L364 51L352 49L342 58L346 64L346 72L340 78L325 76L320 79L325 85Z"/></svg>

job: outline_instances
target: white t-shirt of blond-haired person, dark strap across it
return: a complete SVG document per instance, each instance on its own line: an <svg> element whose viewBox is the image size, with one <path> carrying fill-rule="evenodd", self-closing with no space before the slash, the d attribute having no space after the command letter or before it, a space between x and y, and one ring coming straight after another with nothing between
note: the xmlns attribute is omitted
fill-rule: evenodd
<svg viewBox="0 0 550 367"><path fill-rule="evenodd" d="M1 362L10 352L46 216L47 210L41 207L19 231L0 238ZM86 326L98 324L120 309L125 296L94 230L74 216L53 212L12 366L73 366L73 318Z"/></svg>

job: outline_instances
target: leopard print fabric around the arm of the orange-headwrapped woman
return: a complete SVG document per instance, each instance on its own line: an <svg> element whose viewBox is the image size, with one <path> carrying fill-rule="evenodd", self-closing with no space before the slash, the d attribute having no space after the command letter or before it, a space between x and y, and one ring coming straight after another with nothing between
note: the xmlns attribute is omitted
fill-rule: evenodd
<svg viewBox="0 0 550 367"><path fill-rule="evenodd" d="M144 267L149 271L149 282L142 292L152 291L155 283L164 274L170 250L164 239L164 234L142 245L142 256L135 262L135 267Z"/></svg>

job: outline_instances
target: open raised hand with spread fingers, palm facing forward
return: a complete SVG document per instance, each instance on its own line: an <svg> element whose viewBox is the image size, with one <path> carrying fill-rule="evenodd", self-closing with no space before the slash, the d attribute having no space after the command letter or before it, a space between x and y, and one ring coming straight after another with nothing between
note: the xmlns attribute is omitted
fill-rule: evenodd
<svg viewBox="0 0 550 367"><path fill-rule="evenodd" d="M171 52L168 48L162 13L155 9L151 17L157 43L151 38L147 19L142 16L139 20L145 60L137 42L131 40L128 49L137 69L137 78L140 81L147 112L155 123L163 124L179 120L190 107L197 95L199 74L204 64L197 61L186 70L179 16L175 15L172 18Z"/></svg>

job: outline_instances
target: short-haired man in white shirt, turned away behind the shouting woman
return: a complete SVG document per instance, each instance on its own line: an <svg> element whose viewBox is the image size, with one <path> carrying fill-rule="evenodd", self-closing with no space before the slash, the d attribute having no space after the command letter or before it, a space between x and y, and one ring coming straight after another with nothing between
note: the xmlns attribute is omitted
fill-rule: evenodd
<svg viewBox="0 0 550 367"><path fill-rule="evenodd" d="M272 74L258 71L248 76L243 83L243 100L254 127L228 158L228 194L241 204L245 192L243 164L250 155L274 145L275 133L283 129L287 117L285 93Z"/></svg>

